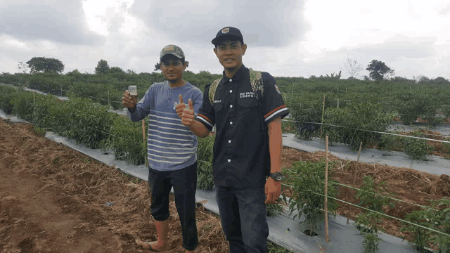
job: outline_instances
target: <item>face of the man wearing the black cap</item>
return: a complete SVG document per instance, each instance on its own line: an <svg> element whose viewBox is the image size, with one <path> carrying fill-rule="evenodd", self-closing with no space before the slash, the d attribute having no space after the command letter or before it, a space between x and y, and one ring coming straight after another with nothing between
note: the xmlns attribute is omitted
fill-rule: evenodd
<svg viewBox="0 0 450 253"><path fill-rule="evenodd" d="M216 48L217 58L222 66L227 70L234 70L242 65L242 56L247 50L246 44L240 44L240 41L221 41Z"/></svg>

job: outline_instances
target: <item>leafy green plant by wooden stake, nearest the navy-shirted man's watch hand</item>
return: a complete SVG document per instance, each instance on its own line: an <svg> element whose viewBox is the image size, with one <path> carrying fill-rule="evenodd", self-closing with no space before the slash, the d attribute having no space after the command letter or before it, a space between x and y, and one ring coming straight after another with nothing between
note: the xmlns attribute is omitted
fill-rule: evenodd
<svg viewBox="0 0 450 253"><path fill-rule="evenodd" d="M336 197L335 180L332 179L330 169L333 162L328 163L328 196ZM318 162L299 161L294 162L291 169L282 169L285 174L285 182L292 186L293 196L288 201L290 214L295 210L298 216L304 215L303 223L309 226L312 231L321 221L323 221L323 209L325 209L325 161ZM319 193L317 195L314 193ZM338 203L328 198L328 212L335 216ZM295 219L295 216L293 217Z"/></svg>

